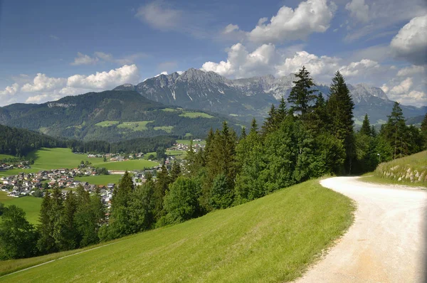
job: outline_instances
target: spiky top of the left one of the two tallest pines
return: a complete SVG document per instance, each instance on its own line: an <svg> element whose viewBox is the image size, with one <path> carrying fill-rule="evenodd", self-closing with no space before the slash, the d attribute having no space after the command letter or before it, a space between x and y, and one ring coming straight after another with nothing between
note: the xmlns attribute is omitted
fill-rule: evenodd
<svg viewBox="0 0 427 283"><path fill-rule="evenodd" d="M305 66L302 66L296 77L298 80L293 82L295 86L290 91L288 102L291 105L290 111L292 114L301 114L302 118L304 118L305 114L311 112L313 108L313 100L316 99L314 93L317 90L313 90L315 83L310 78L310 73L305 69Z"/></svg>

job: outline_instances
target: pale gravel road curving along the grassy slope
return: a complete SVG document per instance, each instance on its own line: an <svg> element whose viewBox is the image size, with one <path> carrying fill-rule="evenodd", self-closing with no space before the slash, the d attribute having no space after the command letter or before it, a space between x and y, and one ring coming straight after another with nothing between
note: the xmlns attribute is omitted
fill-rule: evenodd
<svg viewBox="0 0 427 283"><path fill-rule="evenodd" d="M322 186L357 203L354 224L297 282L427 282L427 191L336 177Z"/></svg>

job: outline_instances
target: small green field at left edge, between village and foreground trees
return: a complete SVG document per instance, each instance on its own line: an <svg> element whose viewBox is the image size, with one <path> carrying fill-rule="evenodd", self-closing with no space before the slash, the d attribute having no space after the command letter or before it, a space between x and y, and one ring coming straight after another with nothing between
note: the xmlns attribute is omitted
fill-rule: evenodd
<svg viewBox="0 0 427 283"><path fill-rule="evenodd" d="M23 196L21 198L12 198L6 195L6 192L0 191L0 203L4 205L16 205L22 208L26 213L26 218L29 223L38 223L38 213L40 212L41 198L32 196ZM0 263L1 265L1 263Z"/></svg>

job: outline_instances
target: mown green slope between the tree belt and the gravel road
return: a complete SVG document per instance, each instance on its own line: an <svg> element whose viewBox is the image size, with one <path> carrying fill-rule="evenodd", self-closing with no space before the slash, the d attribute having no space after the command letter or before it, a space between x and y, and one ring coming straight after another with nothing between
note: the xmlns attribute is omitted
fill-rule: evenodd
<svg viewBox="0 0 427 283"><path fill-rule="evenodd" d="M0 281L290 281L344 233L353 210L349 198L322 188L316 180L308 181ZM48 259L34 258L33 265L43 260ZM1 272L28 267L31 259L6 265Z"/></svg>

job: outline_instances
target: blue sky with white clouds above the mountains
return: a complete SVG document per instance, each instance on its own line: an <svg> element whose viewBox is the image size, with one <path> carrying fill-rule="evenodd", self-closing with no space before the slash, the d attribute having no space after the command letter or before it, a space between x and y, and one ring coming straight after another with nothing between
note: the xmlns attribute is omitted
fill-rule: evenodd
<svg viewBox="0 0 427 283"><path fill-rule="evenodd" d="M0 106L189 68L278 78L302 65L427 105L427 1L0 0Z"/></svg>

